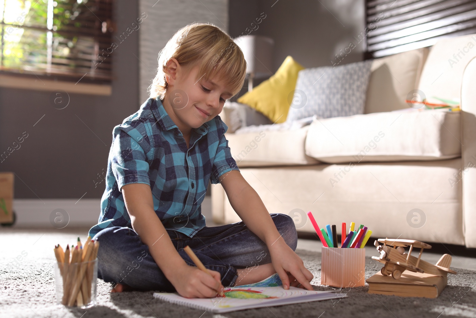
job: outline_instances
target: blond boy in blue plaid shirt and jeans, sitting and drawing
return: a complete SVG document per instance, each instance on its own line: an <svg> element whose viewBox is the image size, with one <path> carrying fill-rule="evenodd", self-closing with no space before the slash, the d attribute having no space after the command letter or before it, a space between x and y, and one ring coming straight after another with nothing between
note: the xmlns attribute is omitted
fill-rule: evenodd
<svg viewBox="0 0 476 318"><path fill-rule="evenodd" d="M159 53L150 98L114 128L99 224L89 231L101 243L98 277L115 282L113 292L215 297L276 272L285 289L312 290L292 219L268 213L224 136L218 114L245 73L243 53L214 25L180 29ZM205 226L208 180L221 183L242 222ZM187 245L213 277L194 266Z"/></svg>

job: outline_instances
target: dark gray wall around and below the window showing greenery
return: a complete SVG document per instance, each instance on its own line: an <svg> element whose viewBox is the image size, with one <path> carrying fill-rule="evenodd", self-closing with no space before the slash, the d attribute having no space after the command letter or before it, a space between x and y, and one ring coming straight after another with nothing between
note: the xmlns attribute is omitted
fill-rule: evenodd
<svg viewBox="0 0 476 318"><path fill-rule="evenodd" d="M116 3L117 32L122 33L140 16L139 6L137 0ZM106 170L112 129L140 106L138 33L133 31L109 56L116 77L111 96L69 93L69 105L58 110L50 104L50 92L0 88L0 152L28 133L0 163L0 171L17 174L15 198L102 195L104 181L95 188L94 180Z"/></svg>

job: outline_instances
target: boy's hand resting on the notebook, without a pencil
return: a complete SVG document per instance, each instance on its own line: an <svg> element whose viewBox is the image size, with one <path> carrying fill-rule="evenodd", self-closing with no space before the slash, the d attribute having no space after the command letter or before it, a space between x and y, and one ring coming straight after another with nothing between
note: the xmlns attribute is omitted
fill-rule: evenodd
<svg viewBox="0 0 476 318"><path fill-rule="evenodd" d="M284 240L278 239L268 246L268 250L273 267L281 278L284 289L289 289L289 286L297 287L301 284L303 288L314 290L309 284L314 275L304 267L301 257L297 256Z"/></svg>

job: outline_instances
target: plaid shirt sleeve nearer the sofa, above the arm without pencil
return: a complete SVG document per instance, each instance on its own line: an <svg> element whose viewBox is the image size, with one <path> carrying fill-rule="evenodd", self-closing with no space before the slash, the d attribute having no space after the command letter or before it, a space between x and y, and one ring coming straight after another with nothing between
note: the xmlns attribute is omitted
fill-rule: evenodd
<svg viewBox="0 0 476 318"><path fill-rule="evenodd" d="M218 116L217 116L218 117ZM215 160L211 169L210 181L212 184L218 184L219 177L222 174L225 174L231 170L238 170L238 165L231 156L230 148L228 147L228 140L225 137L225 133L228 130L228 126L219 119L220 123L218 132L218 149L217 154L215 155Z"/></svg>

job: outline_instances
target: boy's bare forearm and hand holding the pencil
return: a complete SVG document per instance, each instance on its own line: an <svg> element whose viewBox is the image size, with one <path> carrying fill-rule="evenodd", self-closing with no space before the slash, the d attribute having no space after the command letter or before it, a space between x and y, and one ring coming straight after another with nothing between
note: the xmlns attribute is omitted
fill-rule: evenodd
<svg viewBox="0 0 476 318"><path fill-rule="evenodd" d="M184 297L215 297L216 290L223 288L220 273L210 271L212 278L185 263L154 211L150 186L134 183L122 186L121 190L132 228L149 246L150 255L178 293Z"/></svg>

